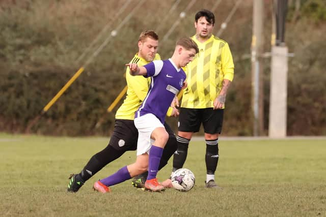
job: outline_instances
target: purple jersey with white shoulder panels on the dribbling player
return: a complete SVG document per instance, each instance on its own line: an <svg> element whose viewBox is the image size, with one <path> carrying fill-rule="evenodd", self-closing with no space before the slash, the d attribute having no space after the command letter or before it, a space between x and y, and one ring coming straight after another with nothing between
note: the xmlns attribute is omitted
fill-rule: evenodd
<svg viewBox="0 0 326 217"><path fill-rule="evenodd" d="M147 70L147 76L144 77L152 77L151 85L135 117L151 113L164 124L172 100L180 91L186 75L176 67L172 59L154 60L144 67Z"/></svg>

